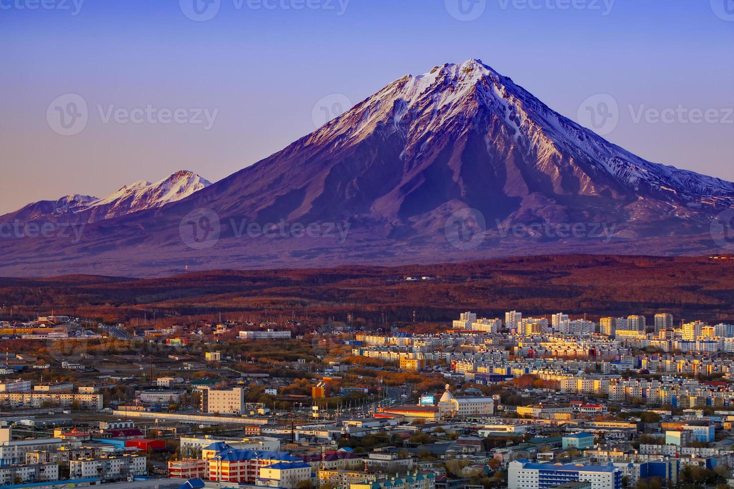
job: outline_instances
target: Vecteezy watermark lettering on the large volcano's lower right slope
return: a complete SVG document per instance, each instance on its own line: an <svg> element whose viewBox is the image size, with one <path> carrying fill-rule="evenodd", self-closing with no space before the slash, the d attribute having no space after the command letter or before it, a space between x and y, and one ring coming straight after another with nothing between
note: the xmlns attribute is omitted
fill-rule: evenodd
<svg viewBox="0 0 734 489"><path fill-rule="evenodd" d="M500 219L495 219L495 224L501 238L507 238L512 235L513 238L533 238L533 239L567 239L567 238L591 238L600 239L603 243L608 243L614 237L614 230L617 229L617 223L611 222L559 222L543 221L525 224L515 223L512 220L502 223Z"/></svg>

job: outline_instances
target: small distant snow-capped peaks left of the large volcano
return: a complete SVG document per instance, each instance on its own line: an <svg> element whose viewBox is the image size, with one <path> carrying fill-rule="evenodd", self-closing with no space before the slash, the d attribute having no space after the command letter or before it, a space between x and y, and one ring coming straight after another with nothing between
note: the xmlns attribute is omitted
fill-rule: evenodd
<svg viewBox="0 0 734 489"><path fill-rule="evenodd" d="M69 222L95 222L125 216L138 210L153 209L181 200L206 188L211 182L194 172L181 170L163 180L150 183L139 180L100 199L73 194L56 201L42 200L26 205L14 213L1 216L1 222L59 219Z"/></svg>

